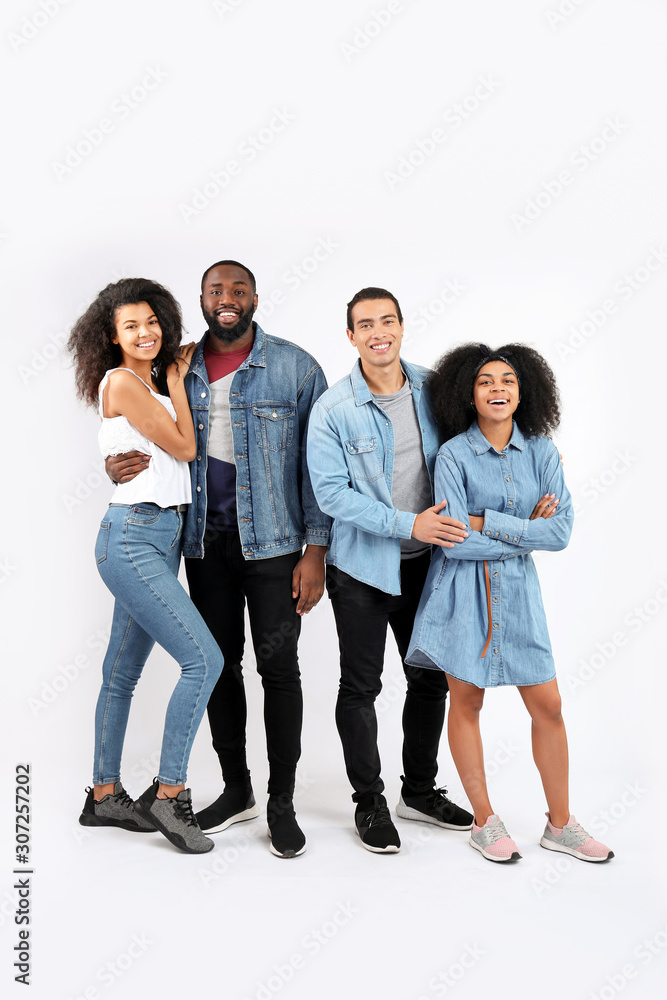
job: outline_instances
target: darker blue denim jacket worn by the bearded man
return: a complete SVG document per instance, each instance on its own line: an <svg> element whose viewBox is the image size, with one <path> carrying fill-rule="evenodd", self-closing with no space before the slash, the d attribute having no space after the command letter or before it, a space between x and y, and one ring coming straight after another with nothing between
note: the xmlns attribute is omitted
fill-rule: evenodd
<svg viewBox="0 0 667 1000"><path fill-rule="evenodd" d="M185 376L197 438L190 463L192 503L183 555L202 558L206 527L206 466L211 391L199 342ZM303 457L308 414L327 387L317 361L296 344L255 327L250 354L229 392L236 507L243 555L267 559L305 544L327 545L331 519L317 506Z"/></svg>

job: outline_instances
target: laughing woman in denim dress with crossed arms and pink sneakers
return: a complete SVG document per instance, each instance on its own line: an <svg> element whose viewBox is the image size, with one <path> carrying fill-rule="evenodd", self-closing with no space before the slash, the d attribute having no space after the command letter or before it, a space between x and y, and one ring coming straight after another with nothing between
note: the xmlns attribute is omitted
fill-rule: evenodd
<svg viewBox="0 0 667 1000"><path fill-rule="evenodd" d="M613 853L570 814L567 737L530 555L565 548L572 529L560 456L546 436L560 418L553 373L530 347L466 344L439 361L430 388L446 441L435 499L468 537L436 549L406 660L447 674L450 747L475 813L470 844L489 861L521 857L489 801L479 730L484 690L515 685L549 808L542 847L607 861Z"/></svg>

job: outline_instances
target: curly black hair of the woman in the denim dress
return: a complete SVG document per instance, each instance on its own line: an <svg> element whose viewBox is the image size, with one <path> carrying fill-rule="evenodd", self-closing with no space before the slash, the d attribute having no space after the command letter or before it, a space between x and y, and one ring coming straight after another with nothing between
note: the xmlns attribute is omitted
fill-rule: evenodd
<svg viewBox="0 0 667 1000"><path fill-rule="evenodd" d="M487 360L506 360L517 375L520 401L514 420L523 434L545 434L560 423L556 379L541 354L525 344L491 350L486 344L463 344L440 358L428 379L433 415L443 441L466 431L475 411L470 405L475 376Z"/></svg>

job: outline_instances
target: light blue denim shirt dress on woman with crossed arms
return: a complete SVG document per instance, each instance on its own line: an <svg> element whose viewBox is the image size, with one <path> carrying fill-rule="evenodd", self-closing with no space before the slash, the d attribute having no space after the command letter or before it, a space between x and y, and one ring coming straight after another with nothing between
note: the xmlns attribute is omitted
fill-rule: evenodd
<svg viewBox="0 0 667 1000"><path fill-rule="evenodd" d="M556 513L529 520L545 493L560 499ZM407 662L446 670L478 687L552 680L551 643L529 553L565 548L572 531L572 498L553 441L524 437L514 424L499 452L475 422L438 452L435 500L446 500L446 513L469 531L471 514L484 517L484 526L453 549L435 549Z"/></svg>

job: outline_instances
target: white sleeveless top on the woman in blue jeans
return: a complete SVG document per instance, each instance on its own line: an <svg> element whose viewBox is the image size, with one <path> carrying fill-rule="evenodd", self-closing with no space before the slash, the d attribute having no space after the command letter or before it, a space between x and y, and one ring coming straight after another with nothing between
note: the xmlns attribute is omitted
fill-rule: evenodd
<svg viewBox="0 0 667 1000"><path fill-rule="evenodd" d="M121 483L116 487L110 503L156 503L159 507L173 507L179 503L190 503L192 491L190 487L190 468L187 462L181 462L169 452L160 448L153 441L144 437L127 417L105 417L103 413L102 393L109 375L117 371L132 371L131 368L112 368L100 382L99 411L102 426L98 441L103 458L109 455L122 455L126 451L143 451L151 456L148 468L140 472L129 483ZM169 415L176 420L174 404L169 396L160 396L154 392L144 380L132 372L142 385L145 385L151 396L159 400Z"/></svg>

